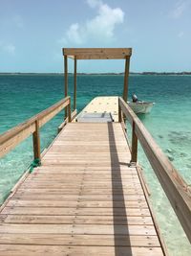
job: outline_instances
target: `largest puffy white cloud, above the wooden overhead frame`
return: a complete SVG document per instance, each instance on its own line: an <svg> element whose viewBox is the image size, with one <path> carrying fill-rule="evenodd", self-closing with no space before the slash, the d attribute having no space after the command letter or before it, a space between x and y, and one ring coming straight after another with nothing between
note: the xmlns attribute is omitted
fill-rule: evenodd
<svg viewBox="0 0 191 256"><path fill-rule="evenodd" d="M116 26L123 22L124 12L99 0L87 0L87 4L96 10L96 16L83 24L72 24L59 42L83 44L91 40L105 42L115 38Z"/></svg>

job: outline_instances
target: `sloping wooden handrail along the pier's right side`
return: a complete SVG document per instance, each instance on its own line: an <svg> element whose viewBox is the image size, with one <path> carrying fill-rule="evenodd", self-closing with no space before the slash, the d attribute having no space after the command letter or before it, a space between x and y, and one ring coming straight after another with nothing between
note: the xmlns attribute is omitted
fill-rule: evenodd
<svg viewBox="0 0 191 256"><path fill-rule="evenodd" d="M135 135L138 138L155 174L159 178L167 198L180 220L187 238L191 242L191 189L167 156L160 150L151 134L138 119L138 116L120 97L118 98L118 106L134 127L133 136Z"/></svg>

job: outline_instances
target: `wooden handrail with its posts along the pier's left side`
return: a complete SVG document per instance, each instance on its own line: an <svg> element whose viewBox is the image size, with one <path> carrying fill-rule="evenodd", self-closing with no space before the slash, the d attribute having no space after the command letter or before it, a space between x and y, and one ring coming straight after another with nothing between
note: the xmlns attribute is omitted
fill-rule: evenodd
<svg viewBox="0 0 191 256"><path fill-rule="evenodd" d="M28 119L26 122L18 125L15 128L11 128L5 133L0 135L0 156L5 155L12 149L14 149L19 143L33 135L33 154L34 159L40 158L40 139L39 128L44 126L49 120L51 120L57 113L63 108L69 106L68 117L71 121L71 98L66 97L58 103L50 106L39 114Z"/></svg>

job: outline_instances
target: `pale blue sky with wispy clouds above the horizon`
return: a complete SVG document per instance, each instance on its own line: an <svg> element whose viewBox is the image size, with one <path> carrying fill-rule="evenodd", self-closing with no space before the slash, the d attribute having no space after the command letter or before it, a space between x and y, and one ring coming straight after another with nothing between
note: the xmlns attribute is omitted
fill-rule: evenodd
<svg viewBox="0 0 191 256"><path fill-rule="evenodd" d="M132 47L131 71L191 71L191 0L0 0L0 72L62 72L62 47Z"/></svg>

